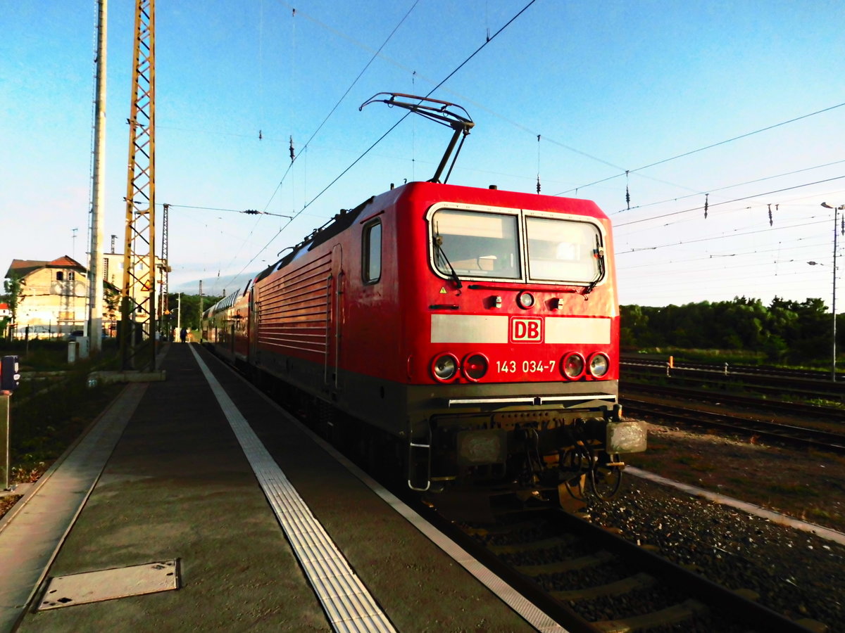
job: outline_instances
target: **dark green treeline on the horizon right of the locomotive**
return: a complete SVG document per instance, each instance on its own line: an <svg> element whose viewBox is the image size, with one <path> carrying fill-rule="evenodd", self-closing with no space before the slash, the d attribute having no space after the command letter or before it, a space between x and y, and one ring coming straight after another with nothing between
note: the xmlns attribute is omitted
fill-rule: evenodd
<svg viewBox="0 0 845 633"><path fill-rule="evenodd" d="M775 297L769 306L744 296L683 306L619 306L622 349L676 347L744 350L766 360L805 363L831 357L833 319L820 299ZM837 347L845 322L837 317Z"/></svg>

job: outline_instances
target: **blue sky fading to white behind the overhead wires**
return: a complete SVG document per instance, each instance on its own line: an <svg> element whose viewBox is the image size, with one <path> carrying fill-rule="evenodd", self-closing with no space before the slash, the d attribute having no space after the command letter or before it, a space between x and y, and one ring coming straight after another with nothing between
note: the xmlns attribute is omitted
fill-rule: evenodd
<svg viewBox="0 0 845 633"><path fill-rule="evenodd" d="M409 117L314 200L404 114L364 100L427 94L526 3L159 0L156 200L181 205L171 289L231 291L338 209L428 179L450 130ZM123 241L133 19L134 2L111 0L106 250ZM843 23L841 2L537 0L432 95L476 122L450 182L531 192L539 173L543 193L595 200L616 226L623 303L830 306L820 203L845 204ZM0 3L3 272L13 258L86 262L94 24L93 1ZM297 219L271 241L286 219L210 208Z"/></svg>

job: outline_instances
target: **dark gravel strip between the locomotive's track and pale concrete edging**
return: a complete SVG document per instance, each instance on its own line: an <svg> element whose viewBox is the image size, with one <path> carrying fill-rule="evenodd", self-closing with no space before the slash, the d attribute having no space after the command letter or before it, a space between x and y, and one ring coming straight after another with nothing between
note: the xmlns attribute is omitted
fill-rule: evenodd
<svg viewBox="0 0 845 633"><path fill-rule="evenodd" d="M845 547L679 490L627 476L619 496L586 518L713 582L750 589L792 619L845 632Z"/></svg>

